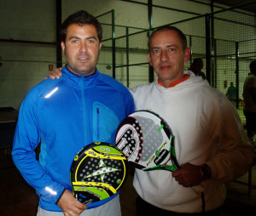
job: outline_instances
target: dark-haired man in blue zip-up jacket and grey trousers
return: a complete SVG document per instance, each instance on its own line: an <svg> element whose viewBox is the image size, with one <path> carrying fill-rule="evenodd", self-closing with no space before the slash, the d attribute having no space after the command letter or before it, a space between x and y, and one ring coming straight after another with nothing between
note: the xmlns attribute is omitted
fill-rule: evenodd
<svg viewBox="0 0 256 216"><path fill-rule="evenodd" d="M61 47L67 60L61 78L40 82L20 106L15 165L40 197L38 215L121 215L119 196L84 211L71 192L69 170L84 145L114 145L119 122L134 111L132 96L96 69L102 26L95 17L85 11L70 15L61 26Z"/></svg>

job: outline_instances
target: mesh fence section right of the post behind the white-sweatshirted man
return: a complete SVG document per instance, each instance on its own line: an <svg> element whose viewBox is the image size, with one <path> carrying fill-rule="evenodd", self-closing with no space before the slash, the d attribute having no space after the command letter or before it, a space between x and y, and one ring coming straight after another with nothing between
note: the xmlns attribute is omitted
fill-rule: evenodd
<svg viewBox="0 0 256 216"><path fill-rule="evenodd" d="M256 3L253 3L254 5ZM253 5L252 4L252 5ZM212 62L214 87L226 94L236 106L241 121L243 115L243 83L249 73L249 64L256 60L255 14L239 8L213 14Z"/></svg>

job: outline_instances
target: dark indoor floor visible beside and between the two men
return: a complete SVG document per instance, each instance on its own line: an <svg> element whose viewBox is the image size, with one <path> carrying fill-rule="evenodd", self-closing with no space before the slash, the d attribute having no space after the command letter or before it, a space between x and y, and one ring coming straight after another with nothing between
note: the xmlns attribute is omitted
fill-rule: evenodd
<svg viewBox="0 0 256 216"><path fill-rule="evenodd" d="M0 164L0 215L35 216L38 196L15 168L9 149L0 149ZM239 179L245 185L232 182L228 186L223 216L256 215L256 188L251 190L251 198L249 199L247 196L247 178L246 174ZM132 187L132 179L133 176L130 174L120 193L123 216L136 215L137 193ZM253 185L256 185L256 166L252 168L252 182Z"/></svg>

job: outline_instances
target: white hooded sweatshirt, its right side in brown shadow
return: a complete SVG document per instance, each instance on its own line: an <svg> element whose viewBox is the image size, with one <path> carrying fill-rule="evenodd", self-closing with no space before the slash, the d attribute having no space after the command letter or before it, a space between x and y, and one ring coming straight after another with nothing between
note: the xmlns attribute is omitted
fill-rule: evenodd
<svg viewBox="0 0 256 216"><path fill-rule="evenodd" d="M189 73L189 79L172 88L156 81L131 89L136 110L151 110L163 117L175 136L177 162L207 163L212 178L204 181L206 211L220 207L225 183L247 172L253 147L236 108L207 81ZM178 185L168 171L136 169L133 185L139 196L156 207L178 213L200 213L201 195Z"/></svg>

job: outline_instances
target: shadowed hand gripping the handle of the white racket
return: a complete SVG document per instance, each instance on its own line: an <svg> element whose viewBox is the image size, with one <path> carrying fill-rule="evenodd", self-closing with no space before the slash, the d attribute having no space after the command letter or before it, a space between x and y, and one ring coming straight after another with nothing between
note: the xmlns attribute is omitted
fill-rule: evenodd
<svg viewBox="0 0 256 216"><path fill-rule="evenodd" d="M204 179L201 174L202 166L195 166L189 162L181 165L181 168L172 173L172 177L177 180L179 185L184 187L192 187L200 185Z"/></svg>

